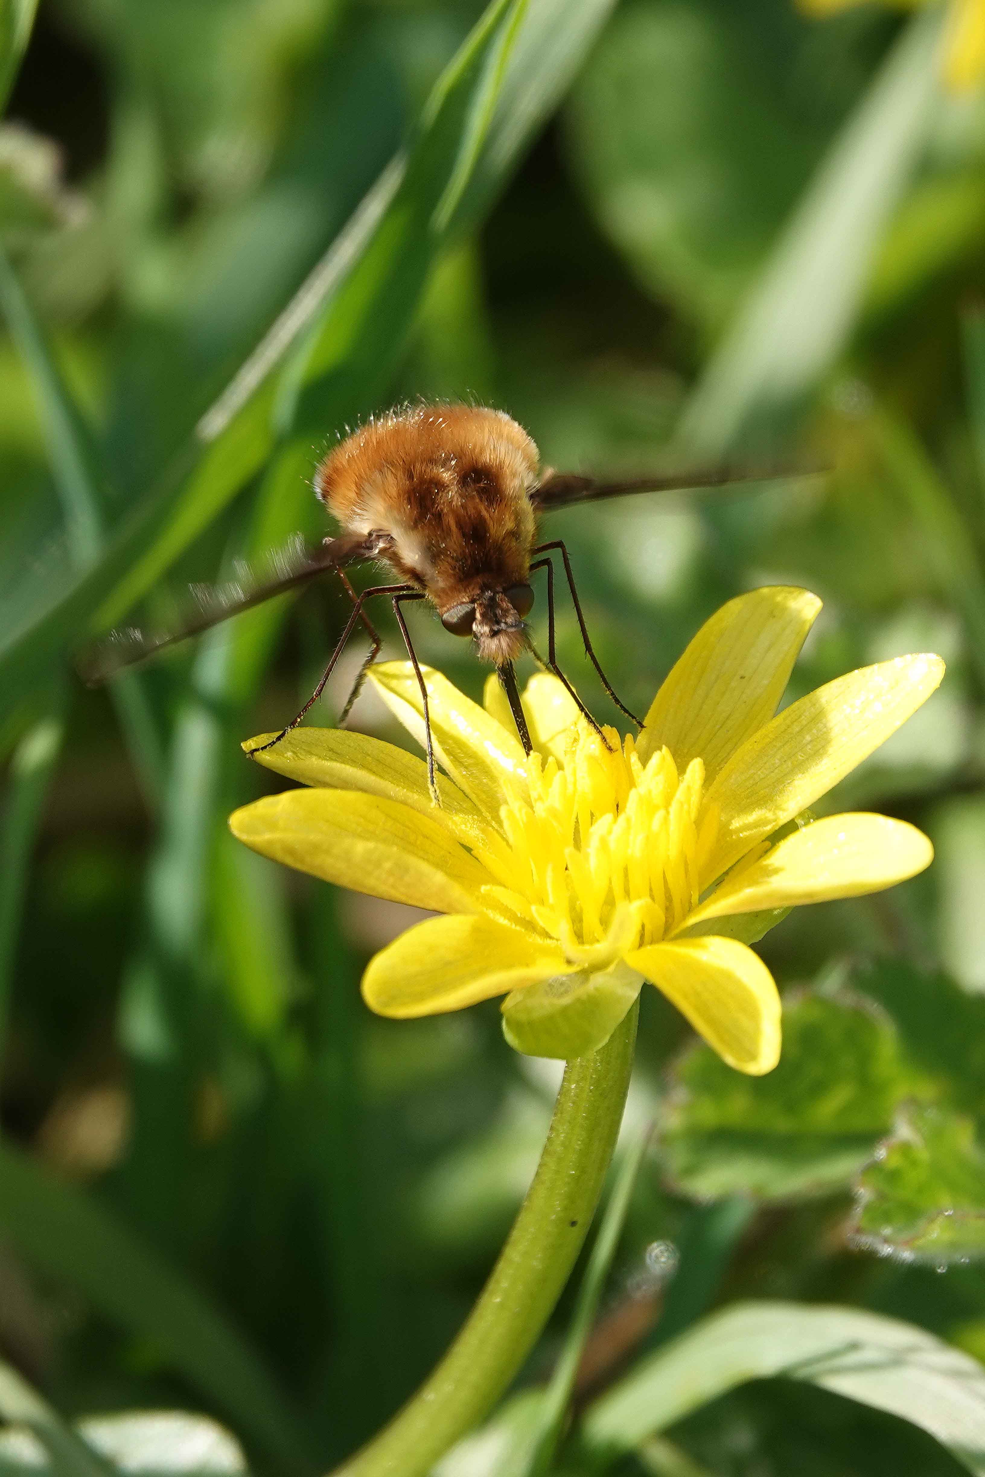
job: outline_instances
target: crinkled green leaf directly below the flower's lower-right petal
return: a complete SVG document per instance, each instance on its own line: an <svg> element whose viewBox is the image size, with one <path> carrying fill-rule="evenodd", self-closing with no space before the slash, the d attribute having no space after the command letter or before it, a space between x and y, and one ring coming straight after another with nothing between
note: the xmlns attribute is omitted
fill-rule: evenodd
<svg viewBox="0 0 985 1477"><path fill-rule="evenodd" d="M662 1140L684 1193L823 1193L851 1183L889 1131L913 1075L880 1012L805 994L784 1001L783 1032L766 1077L730 1071L703 1044L681 1059Z"/></svg>

